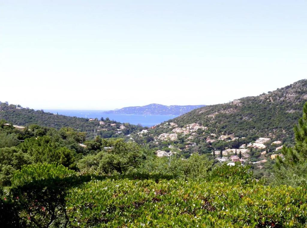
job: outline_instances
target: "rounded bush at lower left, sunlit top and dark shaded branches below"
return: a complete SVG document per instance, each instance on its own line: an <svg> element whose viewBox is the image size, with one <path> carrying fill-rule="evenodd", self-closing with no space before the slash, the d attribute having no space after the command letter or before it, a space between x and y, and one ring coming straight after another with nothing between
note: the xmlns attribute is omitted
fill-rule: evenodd
<svg viewBox="0 0 307 228"><path fill-rule="evenodd" d="M56 163L26 165L16 171L11 199L15 199L19 225L49 227L67 223L64 194L73 178L74 171Z"/></svg>

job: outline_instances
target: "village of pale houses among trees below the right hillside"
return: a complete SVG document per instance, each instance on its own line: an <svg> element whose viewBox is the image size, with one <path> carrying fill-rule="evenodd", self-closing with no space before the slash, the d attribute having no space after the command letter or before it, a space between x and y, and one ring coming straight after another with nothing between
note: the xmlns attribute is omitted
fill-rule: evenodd
<svg viewBox="0 0 307 228"><path fill-rule="evenodd" d="M163 133L156 135L160 129ZM253 164L257 168L263 168L268 160L274 160L277 156L283 157L282 141L273 141L272 138L266 137L248 141L246 137L235 137L234 134L217 135L198 123L178 127L174 122L165 122L136 134L136 137L146 136L153 138L151 143L157 148L157 157L199 153L205 148L205 153L211 154L218 162L226 162L228 165L240 162Z"/></svg>

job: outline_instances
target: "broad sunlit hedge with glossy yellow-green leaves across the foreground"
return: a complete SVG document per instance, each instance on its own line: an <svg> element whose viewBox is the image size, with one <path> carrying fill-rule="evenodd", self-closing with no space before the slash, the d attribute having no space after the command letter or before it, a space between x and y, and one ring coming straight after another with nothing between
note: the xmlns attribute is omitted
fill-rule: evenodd
<svg viewBox="0 0 307 228"><path fill-rule="evenodd" d="M73 227L306 227L302 187L250 181L93 180L72 188Z"/></svg>

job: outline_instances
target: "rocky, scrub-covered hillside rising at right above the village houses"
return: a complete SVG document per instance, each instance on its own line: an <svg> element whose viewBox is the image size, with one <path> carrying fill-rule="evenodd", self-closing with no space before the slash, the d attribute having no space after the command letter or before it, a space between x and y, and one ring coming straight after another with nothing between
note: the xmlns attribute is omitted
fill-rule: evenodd
<svg viewBox="0 0 307 228"><path fill-rule="evenodd" d="M236 136L264 134L293 137L293 125L301 117L307 101L307 80L255 97L244 97L225 104L192 110L172 120L178 125L200 123L217 133Z"/></svg>

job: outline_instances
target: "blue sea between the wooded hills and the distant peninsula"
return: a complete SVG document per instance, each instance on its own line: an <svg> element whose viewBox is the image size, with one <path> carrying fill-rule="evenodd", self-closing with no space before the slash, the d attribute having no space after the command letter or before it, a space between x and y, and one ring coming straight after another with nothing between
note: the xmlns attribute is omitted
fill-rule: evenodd
<svg viewBox="0 0 307 228"><path fill-rule="evenodd" d="M107 118L122 123L141 124L143 127L150 127L169 119L177 117L176 115L124 115L124 114L103 114L107 110L56 110L44 109L44 112L58 113L65 116L76 116L84 118Z"/></svg>

